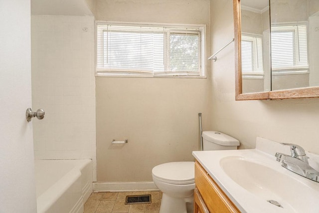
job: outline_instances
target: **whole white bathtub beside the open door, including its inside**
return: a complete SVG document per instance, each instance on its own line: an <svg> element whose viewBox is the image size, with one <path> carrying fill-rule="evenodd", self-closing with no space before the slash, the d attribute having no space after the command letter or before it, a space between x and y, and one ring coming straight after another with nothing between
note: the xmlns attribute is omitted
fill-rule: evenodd
<svg viewBox="0 0 319 213"><path fill-rule="evenodd" d="M92 160L35 160L37 213L83 213L92 193Z"/></svg>

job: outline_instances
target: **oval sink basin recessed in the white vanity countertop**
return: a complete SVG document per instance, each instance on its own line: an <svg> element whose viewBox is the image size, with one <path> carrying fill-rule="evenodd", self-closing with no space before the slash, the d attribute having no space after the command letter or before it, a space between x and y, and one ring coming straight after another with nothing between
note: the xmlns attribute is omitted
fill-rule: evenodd
<svg viewBox="0 0 319 213"><path fill-rule="evenodd" d="M258 199L276 205L278 212L314 212L318 208L318 192L282 172L284 168L273 169L267 162L241 156L221 158L219 164L232 181Z"/></svg>

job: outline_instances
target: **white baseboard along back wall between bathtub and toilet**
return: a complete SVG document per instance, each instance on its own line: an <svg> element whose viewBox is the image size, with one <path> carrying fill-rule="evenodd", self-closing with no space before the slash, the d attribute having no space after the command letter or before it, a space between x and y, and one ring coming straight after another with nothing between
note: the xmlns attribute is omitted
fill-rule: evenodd
<svg viewBox="0 0 319 213"><path fill-rule="evenodd" d="M94 192L159 191L154 182L95 182Z"/></svg>

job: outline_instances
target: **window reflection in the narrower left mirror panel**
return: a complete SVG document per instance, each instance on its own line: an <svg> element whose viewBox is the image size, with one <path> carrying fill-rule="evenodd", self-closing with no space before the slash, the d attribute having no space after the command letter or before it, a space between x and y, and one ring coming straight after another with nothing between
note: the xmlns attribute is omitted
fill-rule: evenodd
<svg viewBox="0 0 319 213"><path fill-rule="evenodd" d="M263 74L262 35L242 33L241 66L243 73Z"/></svg>

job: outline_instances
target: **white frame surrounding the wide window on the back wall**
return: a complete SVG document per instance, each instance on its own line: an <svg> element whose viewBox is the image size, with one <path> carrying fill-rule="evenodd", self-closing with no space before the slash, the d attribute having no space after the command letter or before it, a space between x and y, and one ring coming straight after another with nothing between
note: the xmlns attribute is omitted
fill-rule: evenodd
<svg viewBox="0 0 319 213"><path fill-rule="evenodd" d="M171 30L172 33L181 32L182 29L185 28L194 28L197 27L200 29L199 32L199 72L191 73L193 71L180 71L180 72L173 72L173 71L163 71L163 72L151 72L142 71L142 70L130 70L130 71L121 71L121 70L103 70L98 69L97 57L98 57L98 25L123 25L123 26L154 26L154 27L169 27L169 28L181 28L181 30ZM166 35L164 35L166 36ZM164 57L166 54L164 49ZM100 77L173 77L173 78L206 78L206 25L205 24L172 24L172 23L155 23L155 22L125 22L125 21L95 21L95 76ZM199 73L199 74L197 74Z"/></svg>

